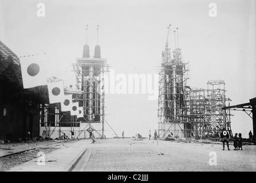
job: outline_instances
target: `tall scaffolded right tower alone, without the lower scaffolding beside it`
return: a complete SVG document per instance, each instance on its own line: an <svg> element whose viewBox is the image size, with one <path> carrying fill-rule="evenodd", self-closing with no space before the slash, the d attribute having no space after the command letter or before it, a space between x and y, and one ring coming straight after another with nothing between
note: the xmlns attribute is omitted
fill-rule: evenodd
<svg viewBox="0 0 256 183"><path fill-rule="evenodd" d="M169 33L170 27L168 27ZM175 136L184 133L187 122L185 108L185 94L187 82L187 64L182 59L181 49L176 47L171 57L168 47L168 37L165 50L162 52L162 63L159 70L159 136L166 136L172 130Z"/></svg>

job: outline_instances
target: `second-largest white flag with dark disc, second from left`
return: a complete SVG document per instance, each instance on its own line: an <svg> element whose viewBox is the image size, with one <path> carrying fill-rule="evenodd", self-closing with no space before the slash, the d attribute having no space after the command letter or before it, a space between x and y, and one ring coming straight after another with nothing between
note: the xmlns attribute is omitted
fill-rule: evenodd
<svg viewBox="0 0 256 183"><path fill-rule="evenodd" d="M64 101L63 81L48 82L49 103L54 104Z"/></svg>

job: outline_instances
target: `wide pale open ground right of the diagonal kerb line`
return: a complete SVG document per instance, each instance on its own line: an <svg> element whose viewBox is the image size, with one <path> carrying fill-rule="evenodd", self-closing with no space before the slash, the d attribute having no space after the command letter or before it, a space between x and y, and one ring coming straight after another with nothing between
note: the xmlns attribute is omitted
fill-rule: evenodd
<svg viewBox="0 0 256 183"><path fill-rule="evenodd" d="M230 149L196 142L97 140L82 171L256 171L255 145ZM209 164L211 153L216 165Z"/></svg>

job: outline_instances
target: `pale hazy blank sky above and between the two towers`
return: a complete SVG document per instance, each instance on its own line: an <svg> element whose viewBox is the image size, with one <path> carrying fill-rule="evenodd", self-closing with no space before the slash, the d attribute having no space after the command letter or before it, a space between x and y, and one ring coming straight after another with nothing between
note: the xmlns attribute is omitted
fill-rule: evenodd
<svg viewBox="0 0 256 183"><path fill-rule="evenodd" d="M45 17L37 4L45 3ZM210 3L217 17L208 15ZM47 53L49 73L74 82L71 64L82 57L85 25L93 55L100 25L101 57L115 73L157 73L167 26L175 27L184 61L190 62L188 85L206 88L210 79L226 82L231 105L256 97L255 1L21 1L0 0L0 39L17 55ZM157 129L157 100L145 94L107 94L105 118L120 135L147 136ZM232 112L233 132L248 136L252 120ZM111 133L112 134L112 133Z"/></svg>

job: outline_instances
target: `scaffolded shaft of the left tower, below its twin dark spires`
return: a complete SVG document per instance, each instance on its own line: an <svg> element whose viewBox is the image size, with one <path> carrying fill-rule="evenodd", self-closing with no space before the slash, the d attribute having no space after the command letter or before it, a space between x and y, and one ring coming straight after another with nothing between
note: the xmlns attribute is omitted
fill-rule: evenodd
<svg viewBox="0 0 256 183"><path fill-rule="evenodd" d="M77 58L73 68L77 78L77 88L81 90L80 97L76 98L84 109L84 118L80 122L101 123L101 137L104 137L104 74L107 71L107 59Z"/></svg>

